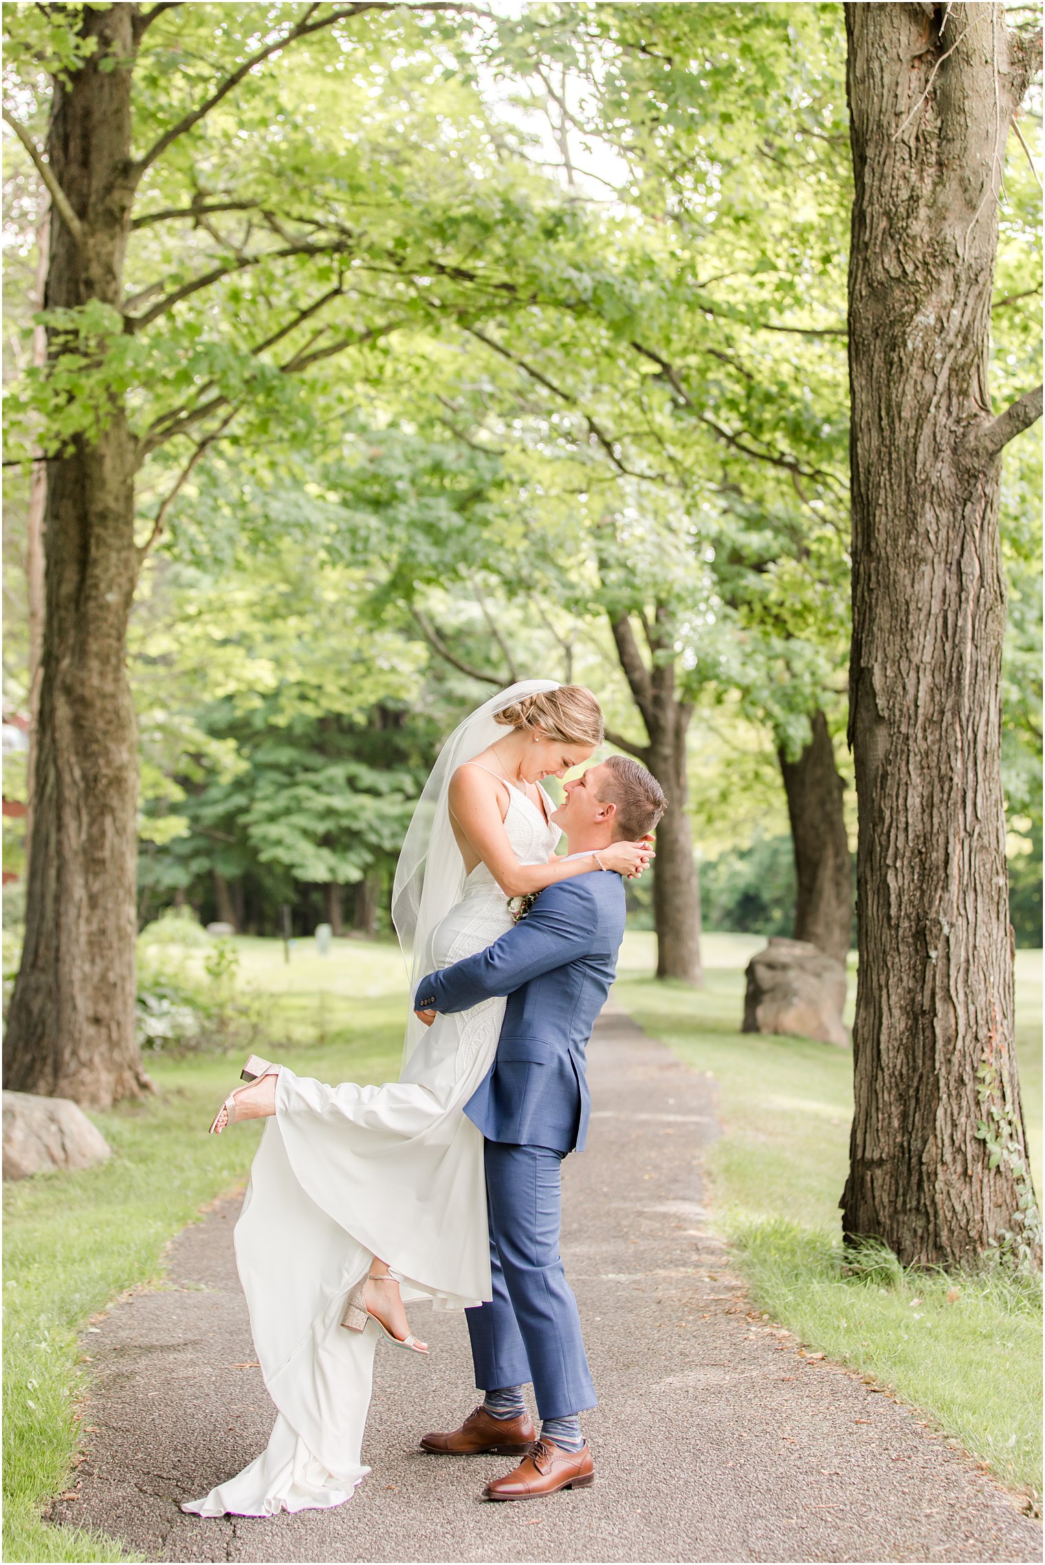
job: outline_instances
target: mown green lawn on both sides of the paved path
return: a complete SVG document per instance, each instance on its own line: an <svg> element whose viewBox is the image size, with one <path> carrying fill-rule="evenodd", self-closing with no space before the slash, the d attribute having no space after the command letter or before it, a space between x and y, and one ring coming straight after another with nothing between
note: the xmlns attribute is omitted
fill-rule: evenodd
<svg viewBox="0 0 1045 1565"><path fill-rule="evenodd" d="M837 1199L845 1178L849 1056L801 1039L740 1034L743 964L760 942L709 936L707 988L646 975L652 937L629 934L616 998L649 1033L718 1083L726 1135L709 1161L715 1222L737 1243L763 1307L804 1341L859 1365L925 1408L1009 1482L1037 1485L1040 1313L1003 1283L837 1271ZM264 995L269 1049L299 1074L380 1081L397 1075L405 975L390 942L336 942L319 956L297 942L236 941L239 983ZM192 964L199 953L185 953ZM1040 1158L1040 958L1020 955L1023 1088ZM208 1138L239 1056L150 1060L156 1096L92 1116L111 1161L5 1188L5 1548L6 1560L113 1560L110 1540L41 1523L72 1482L78 1399L89 1376L91 1316L125 1290L156 1285L164 1246L246 1178L258 1127ZM1036 1169L1037 1188L1040 1172ZM163 1285L161 1282L158 1283ZM920 1302L915 1302L920 1301ZM86 1357L84 1357L86 1355Z"/></svg>

